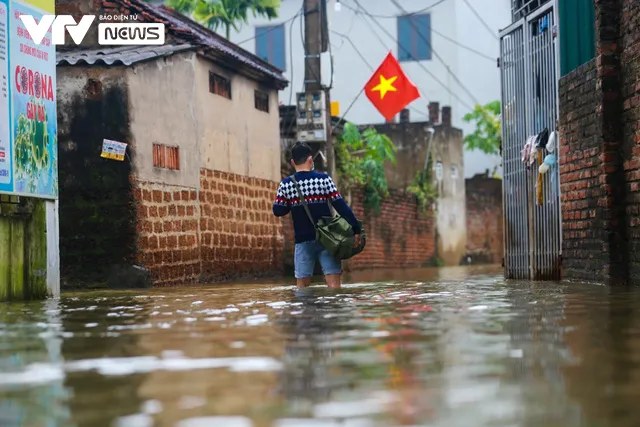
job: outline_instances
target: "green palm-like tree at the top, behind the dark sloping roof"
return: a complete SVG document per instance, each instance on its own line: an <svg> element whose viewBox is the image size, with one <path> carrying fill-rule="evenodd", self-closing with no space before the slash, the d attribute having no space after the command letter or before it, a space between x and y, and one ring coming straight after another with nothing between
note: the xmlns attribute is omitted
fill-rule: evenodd
<svg viewBox="0 0 640 427"><path fill-rule="evenodd" d="M280 0L166 0L167 5L193 18L205 27L217 31L224 28L227 39L231 28L240 30L240 24L248 23L249 12L254 17L273 19L278 17Z"/></svg>

